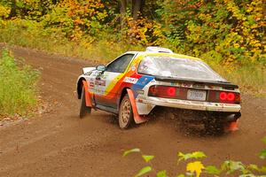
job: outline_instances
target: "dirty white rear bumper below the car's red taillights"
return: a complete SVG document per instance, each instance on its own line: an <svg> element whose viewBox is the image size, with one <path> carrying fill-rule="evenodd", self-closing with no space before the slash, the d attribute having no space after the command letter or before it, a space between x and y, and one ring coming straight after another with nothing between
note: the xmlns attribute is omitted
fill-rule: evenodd
<svg viewBox="0 0 266 177"><path fill-rule="evenodd" d="M144 104L153 104L165 107L207 112L240 112L241 110L240 104L220 104L180 99L159 98L153 96L149 96L146 99L138 99L137 101L142 102Z"/></svg>

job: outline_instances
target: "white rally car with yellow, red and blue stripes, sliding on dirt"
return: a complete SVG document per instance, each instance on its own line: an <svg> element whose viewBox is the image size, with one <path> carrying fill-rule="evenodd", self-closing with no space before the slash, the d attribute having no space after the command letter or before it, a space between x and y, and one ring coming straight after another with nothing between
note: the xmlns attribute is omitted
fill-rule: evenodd
<svg viewBox="0 0 266 177"><path fill-rule="evenodd" d="M119 126L142 123L155 109L194 112L206 129L237 129L239 86L200 58L160 47L128 51L107 65L84 67L77 80L80 117L94 110L118 115Z"/></svg>

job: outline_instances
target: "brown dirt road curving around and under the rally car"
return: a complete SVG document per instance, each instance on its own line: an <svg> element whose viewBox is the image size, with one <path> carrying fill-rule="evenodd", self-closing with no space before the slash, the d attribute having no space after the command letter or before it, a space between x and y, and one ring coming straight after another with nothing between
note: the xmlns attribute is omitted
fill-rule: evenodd
<svg viewBox="0 0 266 177"><path fill-rule="evenodd" d="M140 148L154 155L157 170L169 176L184 173L176 167L176 153L202 150L206 165L226 159L262 165L257 157L266 135L266 99L242 96L239 131L205 135L200 127L181 126L161 113L149 122L121 130L112 114L92 112L79 119L75 81L90 61L63 58L44 52L13 48L42 72L39 88L49 112L17 123L0 126L0 176L133 176L145 163L137 154L122 158L124 150Z"/></svg>

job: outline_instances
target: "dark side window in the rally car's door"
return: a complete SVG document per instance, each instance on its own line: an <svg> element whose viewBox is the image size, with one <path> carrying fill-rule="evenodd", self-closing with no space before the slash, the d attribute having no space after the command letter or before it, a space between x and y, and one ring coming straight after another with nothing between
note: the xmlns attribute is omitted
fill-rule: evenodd
<svg viewBox="0 0 266 177"><path fill-rule="evenodd" d="M124 73L134 54L126 54L115 59L111 64L107 65L107 72Z"/></svg>

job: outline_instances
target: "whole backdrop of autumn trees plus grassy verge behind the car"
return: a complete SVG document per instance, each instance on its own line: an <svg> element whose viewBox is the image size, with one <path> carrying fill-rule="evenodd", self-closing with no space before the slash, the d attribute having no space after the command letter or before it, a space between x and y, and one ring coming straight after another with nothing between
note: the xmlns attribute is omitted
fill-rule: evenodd
<svg viewBox="0 0 266 177"><path fill-rule="evenodd" d="M99 63L167 47L265 96L265 7L262 0L1 0L0 42Z"/></svg>

